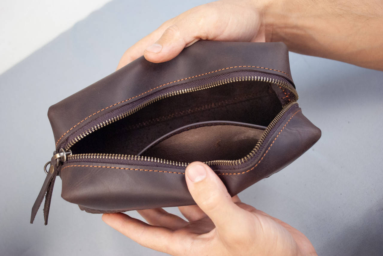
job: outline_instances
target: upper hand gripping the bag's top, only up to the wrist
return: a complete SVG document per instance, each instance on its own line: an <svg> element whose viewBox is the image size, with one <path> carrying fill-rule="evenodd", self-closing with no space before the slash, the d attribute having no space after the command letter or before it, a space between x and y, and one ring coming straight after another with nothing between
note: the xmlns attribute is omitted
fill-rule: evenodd
<svg viewBox="0 0 383 256"><path fill-rule="evenodd" d="M117 69L138 57L151 62L165 62L196 41L265 42L261 27L265 0L221 0L194 7L165 21L155 31L130 47Z"/></svg>

